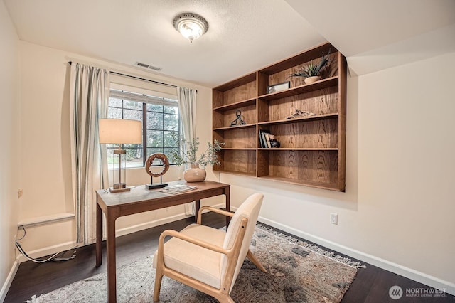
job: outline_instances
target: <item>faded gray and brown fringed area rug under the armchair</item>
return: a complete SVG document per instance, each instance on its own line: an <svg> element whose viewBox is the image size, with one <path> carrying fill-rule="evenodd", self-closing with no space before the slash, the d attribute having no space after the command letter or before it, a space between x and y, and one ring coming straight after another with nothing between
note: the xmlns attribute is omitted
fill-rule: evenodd
<svg viewBox="0 0 455 303"><path fill-rule="evenodd" d="M257 224L251 251L267 273L249 260L232 289L235 302L340 302L361 265ZM117 269L117 302L153 302L155 270L152 257ZM218 302L180 282L163 278L160 302ZM107 302L106 274L102 273L27 302Z"/></svg>

